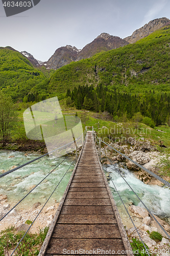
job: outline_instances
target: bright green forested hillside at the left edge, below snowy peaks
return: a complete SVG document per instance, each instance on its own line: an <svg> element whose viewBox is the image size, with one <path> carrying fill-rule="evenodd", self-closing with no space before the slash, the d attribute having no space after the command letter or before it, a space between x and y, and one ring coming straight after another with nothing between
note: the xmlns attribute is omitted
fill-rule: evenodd
<svg viewBox="0 0 170 256"><path fill-rule="evenodd" d="M17 51L0 49L0 88L11 95L14 102L22 101L37 84L43 84L44 74L33 68L30 61ZM45 81L47 83L47 81ZM34 100L44 99L43 90L33 95Z"/></svg>

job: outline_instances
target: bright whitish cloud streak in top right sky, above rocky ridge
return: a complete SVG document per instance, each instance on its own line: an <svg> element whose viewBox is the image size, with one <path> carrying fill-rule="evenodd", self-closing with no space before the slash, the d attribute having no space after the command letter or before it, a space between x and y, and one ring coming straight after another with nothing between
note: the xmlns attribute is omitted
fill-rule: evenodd
<svg viewBox="0 0 170 256"><path fill-rule="evenodd" d="M166 4L167 0L159 0L159 2L154 3L152 8L144 15L142 26L143 24L146 24L150 22L150 20L156 18L158 13L165 7Z"/></svg>

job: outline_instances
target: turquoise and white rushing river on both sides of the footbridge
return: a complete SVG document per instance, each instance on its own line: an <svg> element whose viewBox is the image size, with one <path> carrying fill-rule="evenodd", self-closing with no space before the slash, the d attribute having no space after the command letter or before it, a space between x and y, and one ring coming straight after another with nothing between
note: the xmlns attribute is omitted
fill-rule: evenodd
<svg viewBox="0 0 170 256"><path fill-rule="evenodd" d="M36 153L27 154L25 152L12 152L12 151L0 151L0 170L9 170L13 165L19 166L32 159L35 159L39 155ZM47 178L45 176L56 167L64 157L49 158L45 156L35 162L16 170L15 172L1 178L0 182L0 194L8 196L8 202L11 206L14 206L16 202L26 196L33 186L37 185L43 178L45 180L36 187L26 199L24 199L19 207L31 208L36 202L44 204L47 198L51 195L53 189L63 177L64 173L68 169L71 162L75 157L68 157L64 162L59 165L52 174ZM68 173L56 189L51 198L51 202L60 202L64 193L65 187L71 176L71 172L74 169L75 163L72 164ZM106 169L106 167L105 167ZM123 178L119 175L119 172L124 176L130 186L135 190L140 199L145 205L160 218L165 218L170 224L170 189L167 187L159 187L157 185L147 185L142 181L135 178L134 174L127 168L119 167L117 164L109 165L107 171L110 173L114 184L119 191L126 207L131 204L142 206L140 201L134 195L133 191L126 184ZM129 221L127 212L117 195L112 182L109 182L111 191L113 193L114 200L116 201L120 216L123 222Z"/></svg>

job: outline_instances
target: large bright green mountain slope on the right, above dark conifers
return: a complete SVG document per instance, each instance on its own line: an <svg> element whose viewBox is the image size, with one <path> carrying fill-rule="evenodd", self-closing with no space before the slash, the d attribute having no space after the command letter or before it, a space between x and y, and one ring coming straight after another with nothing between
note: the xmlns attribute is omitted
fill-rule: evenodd
<svg viewBox="0 0 170 256"><path fill-rule="evenodd" d="M118 49L71 62L52 75L48 92L52 95L79 86L100 84L131 94L148 90L169 92L170 26Z"/></svg>

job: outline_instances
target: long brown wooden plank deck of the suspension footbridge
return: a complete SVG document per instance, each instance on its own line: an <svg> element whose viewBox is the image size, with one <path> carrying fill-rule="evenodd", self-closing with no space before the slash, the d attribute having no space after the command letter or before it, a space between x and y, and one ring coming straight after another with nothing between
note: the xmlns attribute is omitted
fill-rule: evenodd
<svg viewBox="0 0 170 256"><path fill-rule="evenodd" d="M61 254L133 255L90 132L39 256Z"/></svg>

